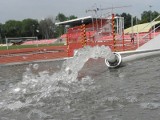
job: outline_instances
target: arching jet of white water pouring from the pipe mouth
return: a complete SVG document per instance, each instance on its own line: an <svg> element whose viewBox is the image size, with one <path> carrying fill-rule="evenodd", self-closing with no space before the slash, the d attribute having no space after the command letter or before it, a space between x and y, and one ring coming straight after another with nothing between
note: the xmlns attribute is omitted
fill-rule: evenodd
<svg viewBox="0 0 160 120"><path fill-rule="evenodd" d="M109 47L95 46L92 48L86 46L82 49L75 51L74 57L65 61L61 71L65 70L64 72L67 72L70 81L75 81L77 79L78 71L82 69L88 59L97 59L99 57L107 58L110 52L111 50Z"/></svg>

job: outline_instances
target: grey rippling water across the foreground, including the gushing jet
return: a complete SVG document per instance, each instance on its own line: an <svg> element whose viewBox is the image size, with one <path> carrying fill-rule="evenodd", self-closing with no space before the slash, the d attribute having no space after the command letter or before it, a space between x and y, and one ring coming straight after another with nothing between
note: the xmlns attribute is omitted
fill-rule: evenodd
<svg viewBox="0 0 160 120"><path fill-rule="evenodd" d="M108 69L104 49L0 66L0 120L159 120L160 57Z"/></svg>

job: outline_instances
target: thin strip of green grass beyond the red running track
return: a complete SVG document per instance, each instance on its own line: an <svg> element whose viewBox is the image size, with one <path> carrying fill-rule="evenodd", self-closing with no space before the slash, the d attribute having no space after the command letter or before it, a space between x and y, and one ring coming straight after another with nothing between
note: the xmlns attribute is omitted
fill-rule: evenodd
<svg viewBox="0 0 160 120"><path fill-rule="evenodd" d="M8 46L8 50L22 49L22 48L35 48L35 47L47 47L47 46L62 46L62 45L64 45L64 43L39 44L39 45L12 45L12 46ZM7 50L7 46L0 46L0 50Z"/></svg>

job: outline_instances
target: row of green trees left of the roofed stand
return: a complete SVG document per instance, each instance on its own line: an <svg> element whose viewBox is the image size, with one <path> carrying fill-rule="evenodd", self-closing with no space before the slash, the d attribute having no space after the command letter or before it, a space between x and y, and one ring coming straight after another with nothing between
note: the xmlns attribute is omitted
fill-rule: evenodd
<svg viewBox="0 0 160 120"><path fill-rule="evenodd" d="M0 24L0 37L31 37L38 36L39 39L49 39L59 37L64 34L64 26L55 26L55 21L63 22L77 18L74 15L66 17L59 13L56 19L45 18L37 21L36 19L24 19L22 21L9 20L5 24Z"/></svg>

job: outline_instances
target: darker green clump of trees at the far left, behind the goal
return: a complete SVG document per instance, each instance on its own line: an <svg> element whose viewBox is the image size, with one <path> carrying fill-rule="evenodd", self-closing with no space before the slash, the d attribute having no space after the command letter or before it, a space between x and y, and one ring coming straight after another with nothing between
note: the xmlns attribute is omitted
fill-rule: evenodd
<svg viewBox="0 0 160 120"><path fill-rule="evenodd" d="M1 34L3 38L37 36L38 26L38 21L34 19L9 20L1 25Z"/></svg>

